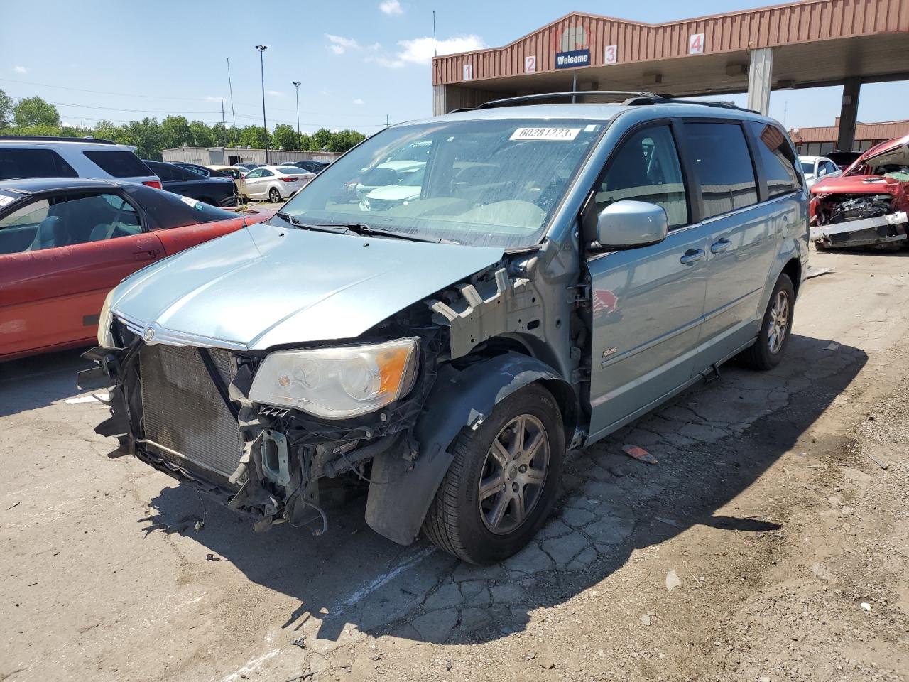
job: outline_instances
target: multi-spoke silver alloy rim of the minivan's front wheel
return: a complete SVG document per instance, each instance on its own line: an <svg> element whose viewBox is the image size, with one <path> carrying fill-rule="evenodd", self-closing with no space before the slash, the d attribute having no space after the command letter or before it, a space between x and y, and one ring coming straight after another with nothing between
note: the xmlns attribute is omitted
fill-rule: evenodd
<svg viewBox="0 0 909 682"><path fill-rule="evenodd" d="M549 469L549 437L532 415L508 422L493 439L480 476L477 503L484 526L511 533L531 515Z"/></svg>

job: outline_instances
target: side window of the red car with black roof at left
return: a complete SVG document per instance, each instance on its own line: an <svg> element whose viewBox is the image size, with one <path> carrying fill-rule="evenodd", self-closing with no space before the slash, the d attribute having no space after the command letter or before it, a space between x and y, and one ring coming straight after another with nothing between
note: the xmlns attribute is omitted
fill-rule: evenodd
<svg viewBox="0 0 909 682"><path fill-rule="evenodd" d="M75 246L141 231L135 208L122 196L54 196L0 218L0 254Z"/></svg>

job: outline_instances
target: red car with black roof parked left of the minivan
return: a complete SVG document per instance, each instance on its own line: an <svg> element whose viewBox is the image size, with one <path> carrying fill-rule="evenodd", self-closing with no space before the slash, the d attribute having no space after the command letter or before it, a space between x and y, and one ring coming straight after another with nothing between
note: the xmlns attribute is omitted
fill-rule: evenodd
<svg viewBox="0 0 909 682"><path fill-rule="evenodd" d="M94 343L125 276L271 215L105 180L0 182L0 362Z"/></svg>

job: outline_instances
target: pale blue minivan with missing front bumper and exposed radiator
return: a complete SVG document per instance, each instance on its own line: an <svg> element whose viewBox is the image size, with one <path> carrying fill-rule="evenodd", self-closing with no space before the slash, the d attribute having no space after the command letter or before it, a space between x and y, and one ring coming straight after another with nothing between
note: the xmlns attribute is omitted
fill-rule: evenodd
<svg viewBox="0 0 909 682"><path fill-rule="evenodd" d="M526 99L389 127L125 279L80 375L110 387L97 433L256 530L325 532L326 491L368 486L376 532L484 564L542 526L568 449L734 356L776 366L807 269L782 127ZM417 173L372 172L415 145Z"/></svg>

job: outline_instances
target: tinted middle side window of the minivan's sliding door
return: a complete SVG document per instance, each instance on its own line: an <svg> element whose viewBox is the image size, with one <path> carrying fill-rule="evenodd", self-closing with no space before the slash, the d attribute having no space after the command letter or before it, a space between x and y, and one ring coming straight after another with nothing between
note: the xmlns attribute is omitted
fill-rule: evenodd
<svg viewBox="0 0 909 682"><path fill-rule="evenodd" d="M686 123L688 149L704 197L704 218L757 203L754 165L738 123Z"/></svg>

